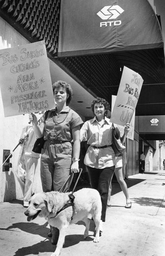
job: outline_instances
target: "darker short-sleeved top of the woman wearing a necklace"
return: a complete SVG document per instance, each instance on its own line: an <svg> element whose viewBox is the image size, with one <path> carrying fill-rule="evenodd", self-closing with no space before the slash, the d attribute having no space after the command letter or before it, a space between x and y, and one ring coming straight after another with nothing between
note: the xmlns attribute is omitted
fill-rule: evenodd
<svg viewBox="0 0 165 256"><path fill-rule="evenodd" d="M45 121L45 115L47 115ZM43 114L41 122L45 123L44 139L72 141L72 129L83 123L80 116L66 106L59 114L56 109Z"/></svg>

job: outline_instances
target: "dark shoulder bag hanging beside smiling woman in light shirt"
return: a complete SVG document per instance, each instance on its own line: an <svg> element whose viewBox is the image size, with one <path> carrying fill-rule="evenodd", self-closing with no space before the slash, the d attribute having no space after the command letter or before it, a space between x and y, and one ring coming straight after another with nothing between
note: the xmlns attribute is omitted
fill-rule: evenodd
<svg viewBox="0 0 165 256"><path fill-rule="evenodd" d="M112 148L115 152L115 156L121 156L122 152L125 150L125 146L122 144L120 134L116 131L114 124L112 124L112 142Z"/></svg>

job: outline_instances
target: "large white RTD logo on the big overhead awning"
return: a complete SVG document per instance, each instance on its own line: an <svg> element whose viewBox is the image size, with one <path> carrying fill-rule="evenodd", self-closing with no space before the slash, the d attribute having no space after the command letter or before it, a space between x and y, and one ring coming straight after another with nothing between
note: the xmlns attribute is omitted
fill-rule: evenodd
<svg viewBox="0 0 165 256"><path fill-rule="evenodd" d="M97 15L105 20L105 19L116 19L124 10L119 5L109 5L104 6ZM108 21L108 22L100 22L100 27L111 27L111 26L119 26L121 25L121 20Z"/></svg>

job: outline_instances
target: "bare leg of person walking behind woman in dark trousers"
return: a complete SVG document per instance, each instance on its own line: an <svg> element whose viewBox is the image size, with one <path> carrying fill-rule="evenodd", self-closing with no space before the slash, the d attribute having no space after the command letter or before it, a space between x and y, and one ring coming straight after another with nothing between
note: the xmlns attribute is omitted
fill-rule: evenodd
<svg viewBox="0 0 165 256"><path fill-rule="evenodd" d="M117 181L119 182L120 187L125 195L126 203L130 203L127 184L125 183L125 181L123 179L122 167L115 168L115 175L116 175Z"/></svg>

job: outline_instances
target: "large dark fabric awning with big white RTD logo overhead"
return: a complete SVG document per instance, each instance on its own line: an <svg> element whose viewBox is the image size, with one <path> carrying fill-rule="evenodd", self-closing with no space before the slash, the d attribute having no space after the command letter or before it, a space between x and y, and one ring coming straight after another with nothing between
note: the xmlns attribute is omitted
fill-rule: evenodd
<svg viewBox="0 0 165 256"><path fill-rule="evenodd" d="M163 48L147 0L62 0L58 57Z"/></svg>

